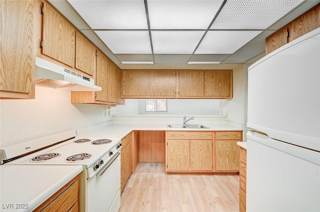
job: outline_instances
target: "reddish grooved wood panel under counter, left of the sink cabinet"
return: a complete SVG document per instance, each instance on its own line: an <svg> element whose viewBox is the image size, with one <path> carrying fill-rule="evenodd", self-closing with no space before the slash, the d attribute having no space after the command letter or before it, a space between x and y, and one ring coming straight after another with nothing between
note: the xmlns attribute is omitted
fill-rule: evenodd
<svg viewBox="0 0 320 212"><path fill-rule="evenodd" d="M139 132L139 161L164 162L165 131Z"/></svg>

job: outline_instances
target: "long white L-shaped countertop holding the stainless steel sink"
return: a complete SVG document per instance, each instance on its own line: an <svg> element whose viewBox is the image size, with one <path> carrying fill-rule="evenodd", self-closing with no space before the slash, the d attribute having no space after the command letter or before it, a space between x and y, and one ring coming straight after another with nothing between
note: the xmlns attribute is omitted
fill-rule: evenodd
<svg viewBox="0 0 320 212"><path fill-rule="evenodd" d="M203 124L209 129L167 128L165 124L104 124L76 130L77 137L113 137L123 138L132 130L161 130L161 131L242 131L239 127L222 124Z"/></svg>

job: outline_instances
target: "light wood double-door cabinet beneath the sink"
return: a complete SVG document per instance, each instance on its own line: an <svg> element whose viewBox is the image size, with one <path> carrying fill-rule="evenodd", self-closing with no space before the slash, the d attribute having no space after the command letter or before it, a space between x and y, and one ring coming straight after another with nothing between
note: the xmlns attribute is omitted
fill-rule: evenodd
<svg viewBox="0 0 320 212"><path fill-rule="evenodd" d="M212 171L212 132L166 131L165 149L166 173Z"/></svg>

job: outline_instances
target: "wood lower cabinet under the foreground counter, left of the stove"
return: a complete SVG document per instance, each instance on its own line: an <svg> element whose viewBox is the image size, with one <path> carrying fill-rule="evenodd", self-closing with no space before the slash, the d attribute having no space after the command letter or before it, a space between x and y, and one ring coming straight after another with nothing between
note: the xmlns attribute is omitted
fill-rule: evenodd
<svg viewBox="0 0 320 212"><path fill-rule="evenodd" d="M73 178L33 212L78 212L79 176Z"/></svg>

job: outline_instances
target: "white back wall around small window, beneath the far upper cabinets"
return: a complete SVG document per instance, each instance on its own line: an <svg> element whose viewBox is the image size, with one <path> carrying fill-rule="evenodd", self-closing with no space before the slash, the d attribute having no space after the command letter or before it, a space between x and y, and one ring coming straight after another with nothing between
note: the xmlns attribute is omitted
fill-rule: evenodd
<svg viewBox="0 0 320 212"><path fill-rule="evenodd" d="M145 99L126 99L116 106L118 115L218 115L217 99L167 99L167 112L145 112Z"/></svg>

